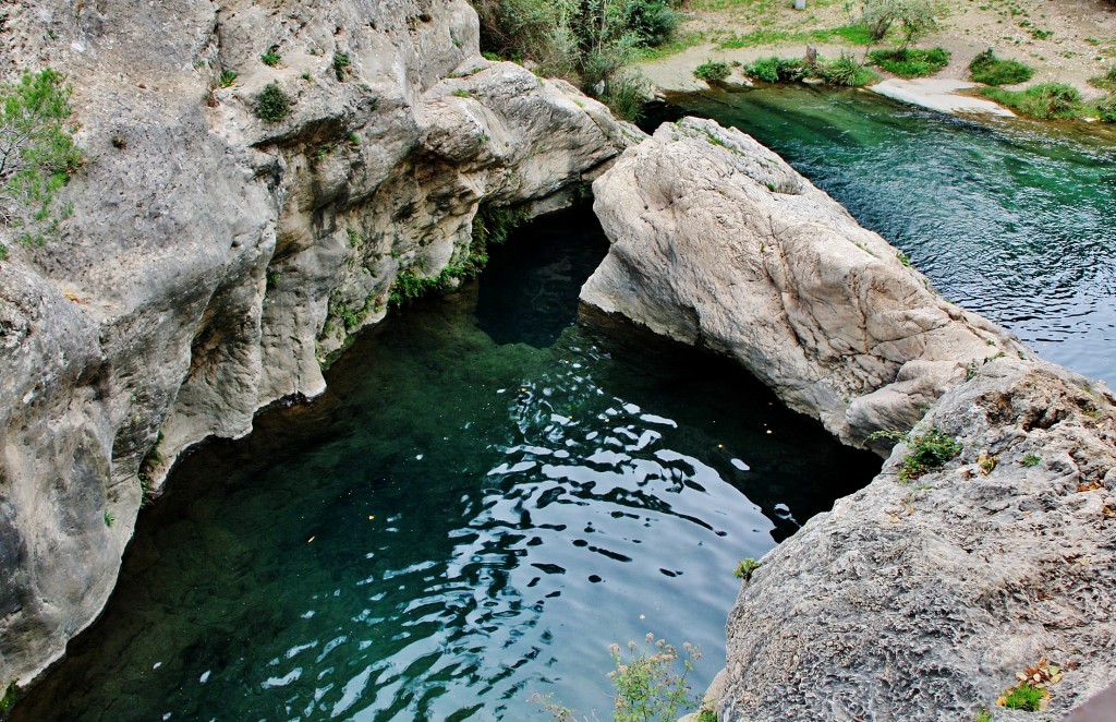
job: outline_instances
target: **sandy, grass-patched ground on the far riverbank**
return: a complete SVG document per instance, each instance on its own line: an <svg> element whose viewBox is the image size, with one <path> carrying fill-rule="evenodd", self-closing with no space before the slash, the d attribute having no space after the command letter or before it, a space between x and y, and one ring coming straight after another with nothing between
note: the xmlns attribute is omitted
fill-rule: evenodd
<svg viewBox="0 0 1116 722"><path fill-rule="evenodd" d="M1069 83L1091 97L1101 92L1088 78L1116 65L1116 0L946 0L943 4L949 15L941 30L917 44L952 51L950 65L935 77L968 79L969 61L994 48L999 57L1035 68L1035 77L1020 87ZM693 0L680 28L680 37L691 47L639 67L660 89L686 91L704 87L692 72L709 59L799 57L807 45L822 56L859 57L864 47L835 32L824 41L809 35L852 25L858 9L858 0L807 0L805 11L795 10L790 0Z"/></svg>

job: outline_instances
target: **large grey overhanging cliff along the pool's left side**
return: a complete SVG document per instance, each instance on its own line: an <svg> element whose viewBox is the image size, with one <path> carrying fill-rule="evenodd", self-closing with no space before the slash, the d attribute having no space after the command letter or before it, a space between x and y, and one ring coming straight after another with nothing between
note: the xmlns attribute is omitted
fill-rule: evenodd
<svg viewBox="0 0 1116 722"><path fill-rule="evenodd" d="M557 208L642 135L481 58L463 0L0 8L0 74L47 65L89 162L60 238L3 239L0 692L96 617L183 449L320 392L401 278L478 251L480 205Z"/></svg>

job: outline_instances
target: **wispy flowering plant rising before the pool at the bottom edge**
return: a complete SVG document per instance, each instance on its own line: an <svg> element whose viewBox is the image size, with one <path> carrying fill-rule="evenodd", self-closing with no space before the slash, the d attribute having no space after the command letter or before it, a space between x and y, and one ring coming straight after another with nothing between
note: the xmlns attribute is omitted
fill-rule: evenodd
<svg viewBox="0 0 1116 722"><path fill-rule="evenodd" d="M701 653L689 643L682 648L682 671L677 672L674 663L680 659L679 652L663 639L655 642L652 634L647 635L642 649L629 642L626 659L620 656L619 645L609 647L616 664L616 668L608 674L616 687L613 720L674 722L696 704L686 677L693 671L693 663L701 658Z"/></svg>

